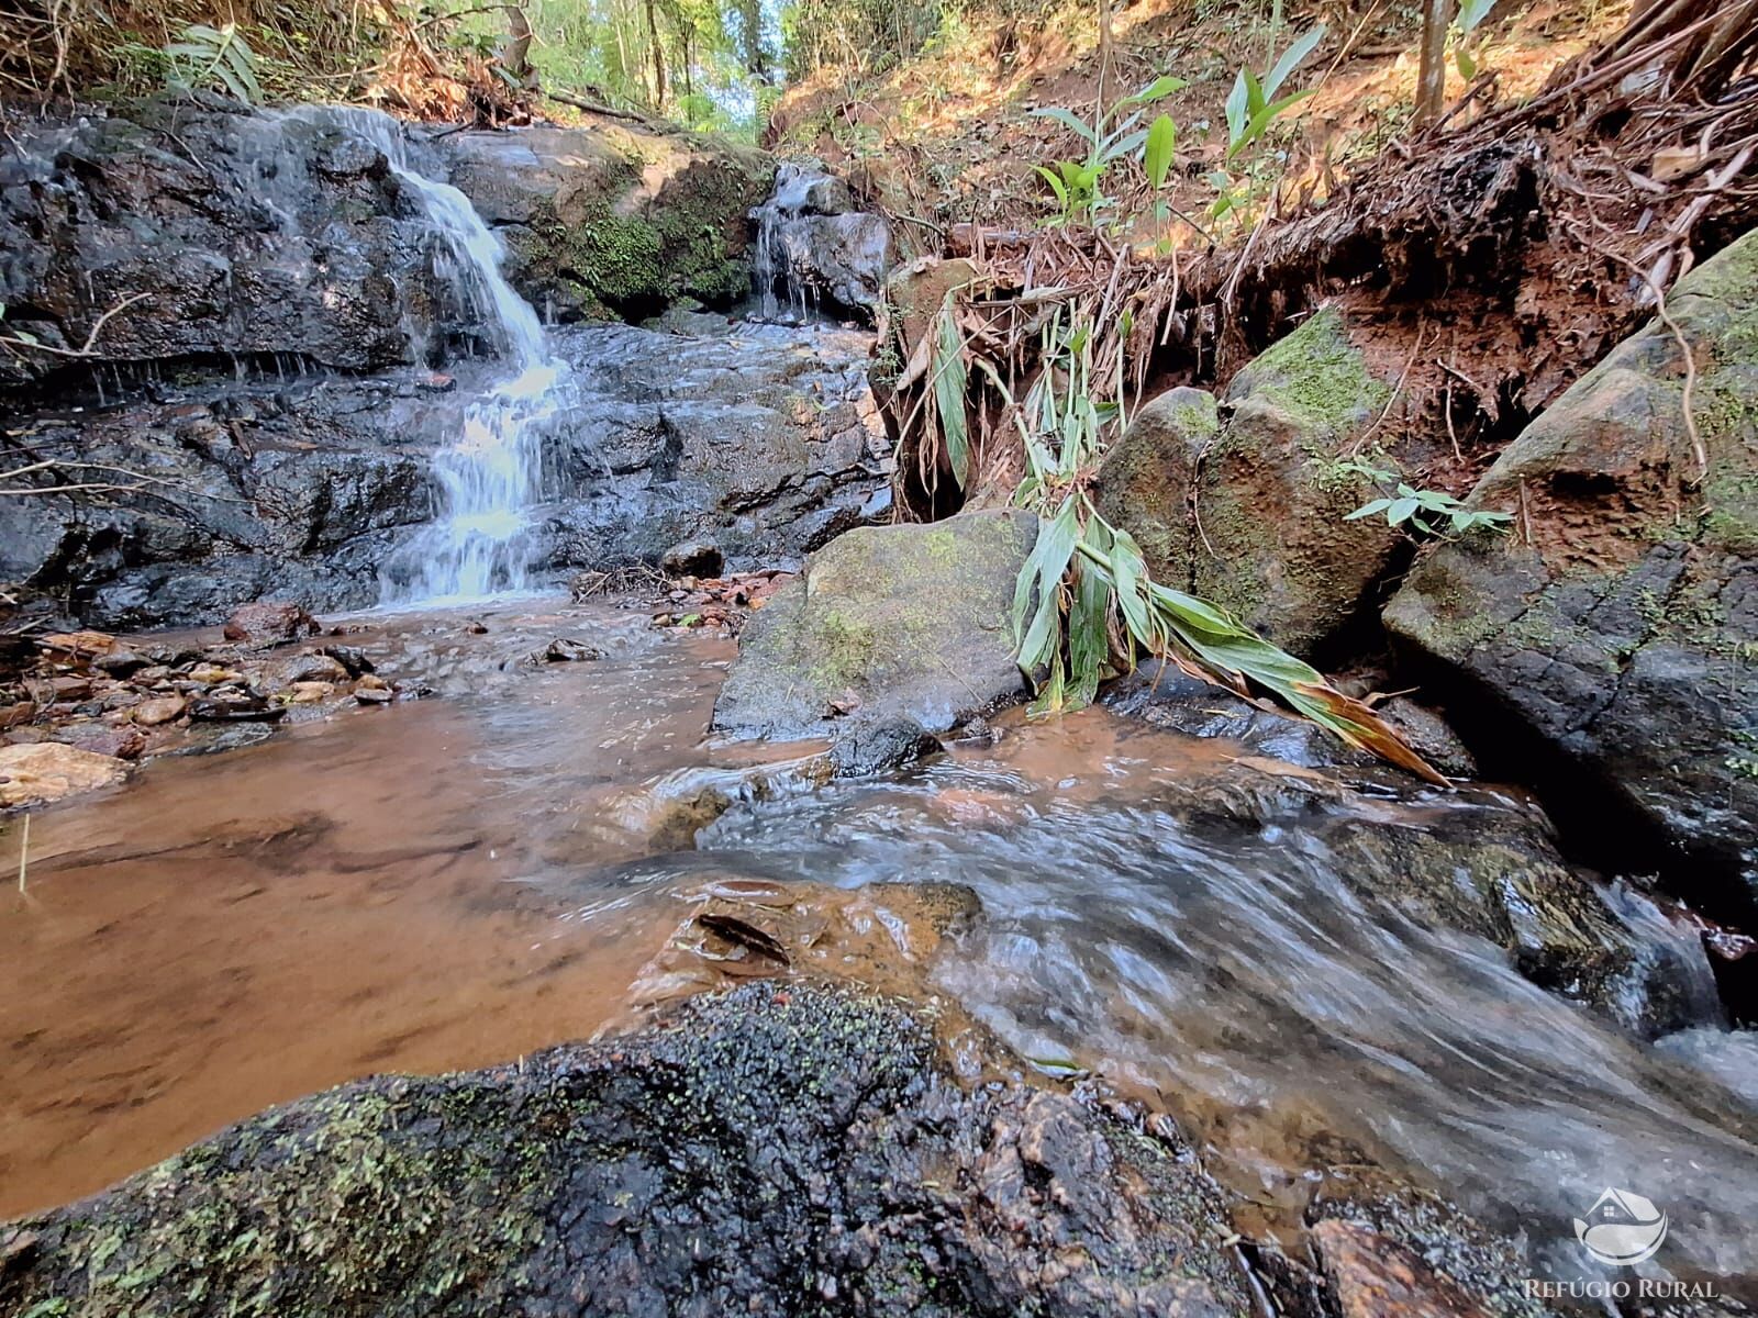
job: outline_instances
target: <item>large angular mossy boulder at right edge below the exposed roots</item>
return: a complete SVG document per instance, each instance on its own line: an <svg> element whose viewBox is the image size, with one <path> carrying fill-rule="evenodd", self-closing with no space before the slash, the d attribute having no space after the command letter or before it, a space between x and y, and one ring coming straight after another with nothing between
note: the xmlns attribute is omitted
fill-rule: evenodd
<svg viewBox="0 0 1758 1318"><path fill-rule="evenodd" d="M1668 311L1695 441L1686 355L1656 320L1478 482L1470 503L1512 532L1426 552L1385 624L1575 789L1609 787L1660 859L1758 896L1758 234Z"/></svg>

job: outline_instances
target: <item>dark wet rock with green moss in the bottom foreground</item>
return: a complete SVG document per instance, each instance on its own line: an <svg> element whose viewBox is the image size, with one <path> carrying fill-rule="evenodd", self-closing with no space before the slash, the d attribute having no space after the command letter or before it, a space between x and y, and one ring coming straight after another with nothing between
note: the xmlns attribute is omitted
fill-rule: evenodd
<svg viewBox="0 0 1758 1318"><path fill-rule="evenodd" d="M19 1234L5 1313L74 1286L91 1314L192 1293L431 1318L1253 1313L1227 1200L1174 1146L1065 1093L967 1093L905 1009L795 982L359 1081Z"/></svg>

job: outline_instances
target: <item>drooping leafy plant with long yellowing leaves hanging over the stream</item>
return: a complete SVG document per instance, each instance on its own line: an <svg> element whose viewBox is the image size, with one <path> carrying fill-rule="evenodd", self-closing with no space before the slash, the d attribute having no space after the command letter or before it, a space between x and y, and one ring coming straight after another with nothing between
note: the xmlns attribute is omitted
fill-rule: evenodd
<svg viewBox="0 0 1758 1318"><path fill-rule="evenodd" d="M1006 395L1000 380L992 380ZM1014 503L1042 518L1013 599L1020 668L1037 687L1034 708L1079 708L1104 678L1153 655L1246 698L1268 691L1350 745L1445 782L1373 710L1317 670L1224 610L1150 576L1141 547L1099 515L1085 489L1104 427L1123 422L1120 404L1093 397L1097 383L1090 330L1064 332L1055 316L1044 330L1044 369L1023 406L1011 408L1028 467ZM1111 381L1115 397L1122 383Z"/></svg>

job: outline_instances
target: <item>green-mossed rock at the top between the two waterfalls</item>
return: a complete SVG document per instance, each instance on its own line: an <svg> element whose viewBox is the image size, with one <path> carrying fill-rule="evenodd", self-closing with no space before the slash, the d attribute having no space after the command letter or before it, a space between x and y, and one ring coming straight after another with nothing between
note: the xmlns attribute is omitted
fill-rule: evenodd
<svg viewBox="0 0 1758 1318"><path fill-rule="evenodd" d="M501 230L510 278L554 316L647 311L751 288L763 151L629 119L450 139L452 183Z"/></svg>

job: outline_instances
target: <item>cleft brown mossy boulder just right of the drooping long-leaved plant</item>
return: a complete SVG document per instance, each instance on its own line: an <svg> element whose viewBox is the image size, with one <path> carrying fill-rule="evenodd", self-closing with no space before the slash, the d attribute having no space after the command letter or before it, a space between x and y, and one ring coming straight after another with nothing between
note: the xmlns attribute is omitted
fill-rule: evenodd
<svg viewBox="0 0 1758 1318"><path fill-rule="evenodd" d="M1391 397L1326 308L1246 366L1225 416L1197 390L1148 404L1106 455L1099 510L1153 573L1311 655L1352 622L1398 548L1345 453Z"/></svg>

